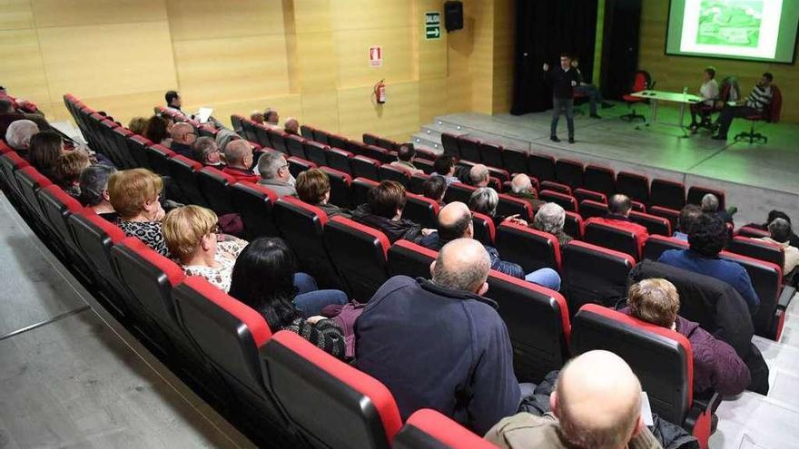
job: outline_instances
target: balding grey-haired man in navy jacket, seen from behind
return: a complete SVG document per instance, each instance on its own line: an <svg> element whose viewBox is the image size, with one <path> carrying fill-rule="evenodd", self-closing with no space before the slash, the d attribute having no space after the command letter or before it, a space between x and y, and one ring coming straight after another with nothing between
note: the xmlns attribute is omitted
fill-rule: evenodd
<svg viewBox="0 0 799 449"><path fill-rule="evenodd" d="M484 434L518 410L508 328L480 296L489 268L477 240L452 240L430 265L432 281L390 278L356 321L356 364L389 388L403 421L432 408Z"/></svg>

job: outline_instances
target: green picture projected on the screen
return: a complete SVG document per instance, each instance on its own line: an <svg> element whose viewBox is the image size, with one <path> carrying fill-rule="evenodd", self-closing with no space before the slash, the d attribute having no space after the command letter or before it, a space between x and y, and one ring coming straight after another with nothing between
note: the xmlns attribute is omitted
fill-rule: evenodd
<svg viewBox="0 0 799 449"><path fill-rule="evenodd" d="M702 0L696 44L757 48L763 0Z"/></svg>

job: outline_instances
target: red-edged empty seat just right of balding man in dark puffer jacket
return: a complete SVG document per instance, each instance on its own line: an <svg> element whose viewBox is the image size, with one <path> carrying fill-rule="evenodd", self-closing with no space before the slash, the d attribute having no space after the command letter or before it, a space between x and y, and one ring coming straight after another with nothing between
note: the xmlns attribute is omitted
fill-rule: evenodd
<svg viewBox="0 0 799 449"><path fill-rule="evenodd" d="M497 250L505 260L521 265L526 273L538 268L562 272L560 243L547 232L505 222L497 229Z"/></svg>

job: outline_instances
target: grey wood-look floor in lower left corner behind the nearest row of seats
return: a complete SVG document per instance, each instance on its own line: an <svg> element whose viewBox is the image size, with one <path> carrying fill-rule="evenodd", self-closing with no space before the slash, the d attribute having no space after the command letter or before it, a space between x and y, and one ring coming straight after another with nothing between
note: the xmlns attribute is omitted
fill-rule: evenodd
<svg viewBox="0 0 799 449"><path fill-rule="evenodd" d="M0 194L0 448L254 447L108 317Z"/></svg>

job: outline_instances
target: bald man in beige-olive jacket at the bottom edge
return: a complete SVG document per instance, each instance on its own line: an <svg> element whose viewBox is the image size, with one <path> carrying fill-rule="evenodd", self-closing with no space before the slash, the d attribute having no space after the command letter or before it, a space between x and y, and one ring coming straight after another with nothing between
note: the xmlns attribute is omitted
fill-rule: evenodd
<svg viewBox="0 0 799 449"><path fill-rule="evenodd" d="M486 439L504 449L661 447L641 417L638 378L611 352L589 351L567 363L549 405L552 413L543 416L503 419Z"/></svg>

